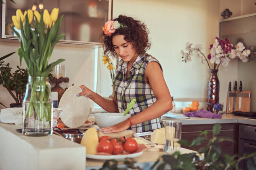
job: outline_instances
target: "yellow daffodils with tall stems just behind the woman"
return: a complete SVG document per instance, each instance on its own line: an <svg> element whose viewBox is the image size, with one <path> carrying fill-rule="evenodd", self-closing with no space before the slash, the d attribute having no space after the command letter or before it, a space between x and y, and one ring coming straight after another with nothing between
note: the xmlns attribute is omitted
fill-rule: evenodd
<svg viewBox="0 0 256 170"><path fill-rule="evenodd" d="M112 87L113 87L113 92L112 94L109 96L109 98L111 100L114 99L114 93L115 93L115 87L114 87L114 84L115 84L115 73L116 73L116 66L117 66L117 63L119 61L118 58L113 58L113 60L110 59L110 57L108 56L103 56L103 59L102 61L104 62L104 64L108 64L107 65L107 68L110 72L110 77L111 77L111 80L112 80Z"/></svg>

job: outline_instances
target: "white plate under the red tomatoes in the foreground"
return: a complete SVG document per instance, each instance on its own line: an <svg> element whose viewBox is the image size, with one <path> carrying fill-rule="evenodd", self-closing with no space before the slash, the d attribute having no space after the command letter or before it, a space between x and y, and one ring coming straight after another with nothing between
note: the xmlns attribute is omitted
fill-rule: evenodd
<svg viewBox="0 0 256 170"><path fill-rule="evenodd" d="M141 151L139 153L133 153L133 154L127 154L127 155L90 155L90 154L87 154L86 158L97 159L97 160L111 160L111 159L121 160L121 159L125 159L125 158L134 158L134 157L142 155L142 153L143 153L143 151Z"/></svg>

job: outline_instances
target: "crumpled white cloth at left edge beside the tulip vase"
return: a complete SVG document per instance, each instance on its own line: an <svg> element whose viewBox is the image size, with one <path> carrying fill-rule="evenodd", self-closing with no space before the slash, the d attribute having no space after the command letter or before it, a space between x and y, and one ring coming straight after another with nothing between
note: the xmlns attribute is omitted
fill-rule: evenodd
<svg viewBox="0 0 256 170"><path fill-rule="evenodd" d="M22 124L22 107L1 109L0 121L3 123Z"/></svg>

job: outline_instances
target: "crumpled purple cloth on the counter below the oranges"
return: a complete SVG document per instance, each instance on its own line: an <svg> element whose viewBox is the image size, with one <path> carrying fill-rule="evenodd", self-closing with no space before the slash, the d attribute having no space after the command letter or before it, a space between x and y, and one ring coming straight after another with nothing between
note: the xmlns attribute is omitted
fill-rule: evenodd
<svg viewBox="0 0 256 170"><path fill-rule="evenodd" d="M204 110L203 108L200 110L197 110L195 112L187 112L184 113L184 116L189 117L204 117L204 118L215 118L215 119L221 119L221 114L215 114L213 112L209 112L207 110Z"/></svg>

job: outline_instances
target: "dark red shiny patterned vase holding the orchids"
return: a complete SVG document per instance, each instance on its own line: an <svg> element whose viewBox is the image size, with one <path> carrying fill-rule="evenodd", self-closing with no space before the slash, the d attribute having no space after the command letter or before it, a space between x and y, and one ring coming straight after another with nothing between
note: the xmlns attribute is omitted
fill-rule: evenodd
<svg viewBox="0 0 256 170"><path fill-rule="evenodd" d="M217 76L218 70L210 70L211 75L208 80L208 88L207 88L207 110L210 112L214 112L214 107L216 103L219 102L219 92L220 92L220 82Z"/></svg>

